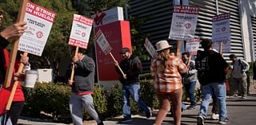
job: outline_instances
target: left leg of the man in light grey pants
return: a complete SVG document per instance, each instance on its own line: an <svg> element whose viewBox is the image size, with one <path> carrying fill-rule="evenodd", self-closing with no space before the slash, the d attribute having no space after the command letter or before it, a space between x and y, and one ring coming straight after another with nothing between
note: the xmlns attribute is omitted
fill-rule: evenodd
<svg viewBox="0 0 256 125"><path fill-rule="evenodd" d="M75 125L82 125L82 100L75 92L70 96L70 114Z"/></svg>

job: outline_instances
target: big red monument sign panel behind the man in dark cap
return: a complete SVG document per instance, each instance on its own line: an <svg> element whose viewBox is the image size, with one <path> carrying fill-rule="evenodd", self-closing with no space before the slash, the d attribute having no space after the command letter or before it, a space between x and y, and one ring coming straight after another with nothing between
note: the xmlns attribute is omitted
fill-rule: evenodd
<svg viewBox="0 0 256 125"><path fill-rule="evenodd" d="M109 41L110 46L113 48L111 53L115 59L120 62L122 55L120 51L123 47L131 49L130 41L130 24L129 21L115 21L107 25L101 25L94 29L94 33L98 32L98 29L102 30L106 40ZM98 80L118 80L118 73L115 71L115 65L110 54L105 54L102 49L95 44L96 57L98 64Z"/></svg>

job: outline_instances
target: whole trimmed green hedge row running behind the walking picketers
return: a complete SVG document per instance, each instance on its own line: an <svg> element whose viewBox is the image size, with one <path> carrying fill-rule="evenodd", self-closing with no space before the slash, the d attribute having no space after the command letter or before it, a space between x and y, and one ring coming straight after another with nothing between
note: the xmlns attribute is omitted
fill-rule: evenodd
<svg viewBox="0 0 256 125"><path fill-rule="evenodd" d="M38 117L40 112L51 115L54 120L70 122L70 87L62 83L37 83L34 88L23 88L26 104L22 114ZM151 108L158 108L157 96L154 92L152 80L141 80L140 96ZM103 117L122 115L122 84L113 84L110 91L101 86L94 86L94 105ZM140 110L131 101L131 110L138 113ZM90 115L84 111L85 119Z"/></svg>

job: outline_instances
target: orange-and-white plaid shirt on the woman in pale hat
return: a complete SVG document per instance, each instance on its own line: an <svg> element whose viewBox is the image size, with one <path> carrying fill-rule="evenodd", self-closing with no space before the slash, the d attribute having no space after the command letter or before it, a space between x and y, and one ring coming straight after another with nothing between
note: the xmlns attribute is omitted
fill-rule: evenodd
<svg viewBox="0 0 256 125"><path fill-rule="evenodd" d="M178 57L170 56L166 61L166 68L161 63L160 57L155 58L150 66L151 75L154 76L154 88L158 92L174 92L182 88L182 76L187 72L186 64Z"/></svg>

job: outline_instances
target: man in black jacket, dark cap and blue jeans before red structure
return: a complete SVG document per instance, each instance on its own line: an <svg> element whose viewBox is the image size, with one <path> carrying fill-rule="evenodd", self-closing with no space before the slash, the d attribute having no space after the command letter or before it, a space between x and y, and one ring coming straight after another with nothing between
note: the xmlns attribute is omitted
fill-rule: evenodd
<svg viewBox="0 0 256 125"><path fill-rule="evenodd" d="M140 72L142 72L142 62L137 56L132 54L129 48L122 48L120 53L122 54L123 59L119 65L125 74L124 76L122 76L122 72L118 68L118 61L114 62L116 65L116 72L120 75L119 80L122 83L122 114L124 118L120 123L126 123L132 120L130 113L130 96L132 100L138 104L138 107L146 113L146 118L150 118L152 115L150 107L148 107L139 97L140 83L138 76Z"/></svg>

